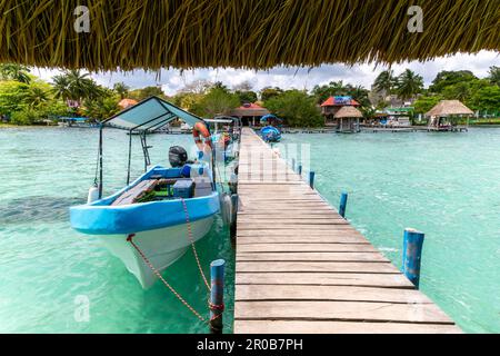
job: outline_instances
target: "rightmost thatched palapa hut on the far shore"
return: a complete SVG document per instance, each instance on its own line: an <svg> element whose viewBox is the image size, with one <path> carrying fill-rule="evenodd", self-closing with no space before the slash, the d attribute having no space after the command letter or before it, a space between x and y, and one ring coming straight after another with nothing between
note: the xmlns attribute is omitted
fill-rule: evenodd
<svg viewBox="0 0 500 356"><path fill-rule="evenodd" d="M441 100L426 113L426 117L429 118L429 130L456 131L467 130L467 127L458 127L457 121L461 117L467 117L467 125L469 125L469 117L472 115L474 112L459 100Z"/></svg>

